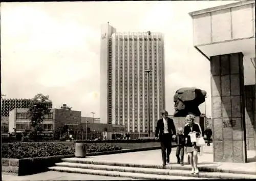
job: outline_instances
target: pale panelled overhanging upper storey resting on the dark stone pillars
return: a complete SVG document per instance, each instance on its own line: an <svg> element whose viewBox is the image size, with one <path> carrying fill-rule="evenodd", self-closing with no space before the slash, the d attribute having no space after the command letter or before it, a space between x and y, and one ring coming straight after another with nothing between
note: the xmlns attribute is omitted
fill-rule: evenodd
<svg viewBox="0 0 256 181"><path fill-rule="evenodd" d="M194 46L210 58L241 52L244 84L255 84L255 2L242 1L189 13Z"/></svg>

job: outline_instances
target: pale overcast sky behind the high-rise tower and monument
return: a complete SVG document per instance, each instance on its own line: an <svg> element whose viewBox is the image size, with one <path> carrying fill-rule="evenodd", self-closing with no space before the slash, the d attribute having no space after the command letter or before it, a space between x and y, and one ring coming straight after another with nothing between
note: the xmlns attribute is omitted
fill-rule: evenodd
<svg viewBox="0 0 256 181"><path fill-rule="evenodd" d="M118 32L152 31L165 36L166 110L181 87L206 90L209 61L193 48L191 11L236 1L1 3L1 78L6 98L49 95L82 116L99 117L100 25ZM204 112L204 103L200 105Z"/></svg>

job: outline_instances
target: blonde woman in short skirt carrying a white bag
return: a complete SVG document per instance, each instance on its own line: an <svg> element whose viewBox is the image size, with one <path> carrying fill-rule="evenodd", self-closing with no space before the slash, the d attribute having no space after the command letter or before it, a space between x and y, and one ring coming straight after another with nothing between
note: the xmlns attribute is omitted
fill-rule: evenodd
<svg viewBox="0 0 256 181"><path fill-rule="evenodd" d="M198 163L198 152L200 147L196 145L196 138L202 135L202 130L199 124L195 123L194 115L187 115L184 127L184 135L186 139L186 153L189 155L190 165L192 167L191 173L199 173Z"/></svg>

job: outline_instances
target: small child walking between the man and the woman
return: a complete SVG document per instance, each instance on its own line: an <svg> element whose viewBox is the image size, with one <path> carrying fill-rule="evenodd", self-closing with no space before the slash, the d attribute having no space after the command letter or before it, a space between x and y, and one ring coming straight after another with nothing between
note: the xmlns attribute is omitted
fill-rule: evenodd
<svg viewBox="0 0 256 181"><path fill-rule="evenodd" d="M176 137L177 149L176 149L176 156L177 156L177 163L180 165L184 165L184 148L185 148L185 135L183 133L183 128L178 128L178 133Z"/></svg>

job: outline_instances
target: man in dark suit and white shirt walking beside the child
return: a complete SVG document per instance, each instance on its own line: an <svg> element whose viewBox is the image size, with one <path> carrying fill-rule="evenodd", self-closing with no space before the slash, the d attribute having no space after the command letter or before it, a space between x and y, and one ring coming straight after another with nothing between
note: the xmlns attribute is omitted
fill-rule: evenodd
<svg viewBox="0 0 256 181"><path fill-rule="evenodd" d="M173 119L167 118L168 112L166 110L161 112L162 118L157 121L156 139L158 138L161 143L163 166L166 162L170 162L170 152L172 151L172 138L176 138L176 129ZM165 152L166 150L166 152Z"/></svg>

